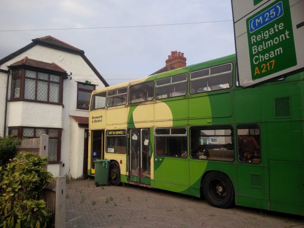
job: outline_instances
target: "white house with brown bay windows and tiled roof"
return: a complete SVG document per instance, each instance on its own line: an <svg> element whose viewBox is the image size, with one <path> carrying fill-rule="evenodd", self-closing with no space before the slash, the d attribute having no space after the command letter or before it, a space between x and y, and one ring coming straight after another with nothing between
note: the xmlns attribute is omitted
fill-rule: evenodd
<svg viewBox="0 0 304 228"><path fill-rule="evenodd" d="M91 92L108 86L81 49L50 35L0 60L0 135L49 135L48 170L87 172Z"/></svg>

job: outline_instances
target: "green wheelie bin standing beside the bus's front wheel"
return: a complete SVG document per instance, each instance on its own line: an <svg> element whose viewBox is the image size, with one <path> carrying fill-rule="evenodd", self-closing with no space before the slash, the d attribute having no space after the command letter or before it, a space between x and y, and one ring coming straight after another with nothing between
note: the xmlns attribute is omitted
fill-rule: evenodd
<svg viewBox="0 0 304 228"><path fill-rule="evenodd" d="M106 185L109 176L110 161L96 159L95 163L95 186Z"/></svg>

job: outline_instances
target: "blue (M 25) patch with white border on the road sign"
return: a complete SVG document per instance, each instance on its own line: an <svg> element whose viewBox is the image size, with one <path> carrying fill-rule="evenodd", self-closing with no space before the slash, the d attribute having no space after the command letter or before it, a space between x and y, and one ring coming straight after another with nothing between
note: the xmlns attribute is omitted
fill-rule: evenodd
<svg viewBox="0 0 304 228"><path fill-rule="evenodd" d="M282 2L279 2L249 21L250 33L278 19L279 17L283 16L283 14L283 4Z"/></svg>

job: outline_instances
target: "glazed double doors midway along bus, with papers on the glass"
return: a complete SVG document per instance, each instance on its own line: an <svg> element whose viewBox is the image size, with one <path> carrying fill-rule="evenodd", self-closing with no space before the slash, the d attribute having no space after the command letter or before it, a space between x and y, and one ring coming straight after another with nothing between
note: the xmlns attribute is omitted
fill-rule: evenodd
<svg viewBox="0 0 304 228"><path fill-rule="evenodd" d="M130 130L130 181L150 184L150 130Z"/></svg>

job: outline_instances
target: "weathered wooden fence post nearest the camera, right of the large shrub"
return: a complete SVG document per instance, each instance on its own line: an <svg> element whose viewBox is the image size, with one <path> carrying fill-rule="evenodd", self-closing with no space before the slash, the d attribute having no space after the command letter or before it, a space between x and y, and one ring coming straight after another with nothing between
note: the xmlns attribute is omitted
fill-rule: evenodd
<svg viewBox="0 0 304 228"><path fill-rule="evenodd" d="M55 228L65 226L65 176L56 177Z"/></svg>

